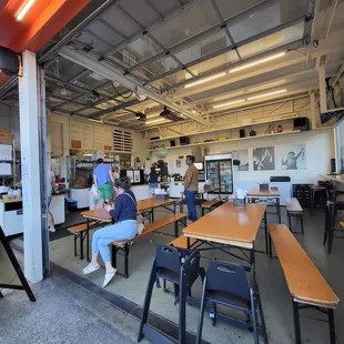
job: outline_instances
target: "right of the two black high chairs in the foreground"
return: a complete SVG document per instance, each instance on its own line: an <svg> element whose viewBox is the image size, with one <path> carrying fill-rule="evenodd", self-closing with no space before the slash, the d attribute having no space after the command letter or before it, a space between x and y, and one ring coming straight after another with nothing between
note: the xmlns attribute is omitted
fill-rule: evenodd
<svg viewBox="0 0 344 344"><path fill-rule="evenodd" d="M250 284L246 273L250 272ZM200 320L196 336L196 344L201 343L204 320L204 310L209 306L213 326L216 320L223 320L241 328L246 328L254 333L254 343L260 343L259 332L262 332L264 342L267 343L267 334L264 314L255 282L254 266L243 266L227 262L211 262L203 283L201 300ZM217 314L216 306L222 305L242 311L245 321L231 315ZM262 325L257 324L257 312L260 313Z"/></svg>

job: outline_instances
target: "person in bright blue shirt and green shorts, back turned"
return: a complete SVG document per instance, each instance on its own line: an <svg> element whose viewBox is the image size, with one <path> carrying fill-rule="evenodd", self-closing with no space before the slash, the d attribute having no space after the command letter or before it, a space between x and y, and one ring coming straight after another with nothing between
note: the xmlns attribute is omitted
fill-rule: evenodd
<svg viewBox="0 0 344 344"><path fill-rule="evenodd" d="M93 182L97 190L101 193L101 203L110 203L112 200L112 184L114 183L114 180L111 165L109 163L104 163L102 159L97 160L97 168L93 171Z"/></svg>

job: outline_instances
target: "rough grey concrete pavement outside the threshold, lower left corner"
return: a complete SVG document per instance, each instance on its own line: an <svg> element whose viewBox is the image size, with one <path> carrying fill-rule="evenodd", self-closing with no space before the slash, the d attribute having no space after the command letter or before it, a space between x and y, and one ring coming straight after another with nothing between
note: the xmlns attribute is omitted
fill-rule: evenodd
<svg viewBox="0 0 344 344"><path fill-rule="evenodd" d="M136 343L135 317L63 276L54 274L31 287L36 303L22 291L3 291L1 344Z"/></svg>

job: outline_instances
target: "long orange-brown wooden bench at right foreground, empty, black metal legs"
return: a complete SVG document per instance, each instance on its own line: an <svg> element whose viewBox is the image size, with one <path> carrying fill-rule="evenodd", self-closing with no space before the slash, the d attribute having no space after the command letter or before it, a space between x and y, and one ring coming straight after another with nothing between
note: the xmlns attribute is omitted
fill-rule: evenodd
<svg viewBox="0 0 344 344"><path fill-rule="evenodd" d="M269 223L267 229L270 234L270 254L272 240L290 293L292 294L295 343L301 343L299 311L315 307L327 314L330 342L331 344L335 344L333 310L340 304L338 297L286 225Z"/></svg>

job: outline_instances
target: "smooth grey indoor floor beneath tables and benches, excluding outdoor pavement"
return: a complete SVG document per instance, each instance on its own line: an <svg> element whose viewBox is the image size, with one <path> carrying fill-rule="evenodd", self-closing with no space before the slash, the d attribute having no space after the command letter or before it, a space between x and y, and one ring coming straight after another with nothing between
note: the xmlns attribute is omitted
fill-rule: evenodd
<svg viewBox="0 0 344 344"><path fill-rule="evenodd" d="M156 214L156 219L159 219L159 216L163 216L163 211ZM276 219L274 215L269 215L269 221L274 222ZM285 221L284 210L283 221ZM324 229L323 211L318 210L314 216L311 217L305 210L304 221L305 234L295 234L295 236L330 285L332 285L337 293L338 297L343 300L344 280L340 277L342 275L342 265L344 262L343 241L335 240L333 252L331 255L327 255L322 244ZM297 229L297 225L294 225L294 229ZM173 229L168 227L163 232L165 234L172 234ZM138 305L142 305L151 262L154 256L155 244L169 243L172 239L171 236L155 233L138 241L131 249L130 277L125 280L121 276L115 276L114 281L107 290ZM259 233L257 249L264 249L263 231ZM68 236L51 242L50 254L53 263L82 276L81 270L87 265L87 262L73 257L72 237ZM206 254L202 254L202 265L205 269L209 261L214 257L217 260L229 260L229 256L217 251L208 252ZM120 269L122 267L121 260L119 261L119 266ZM256 253L256 271L270 343L294 343L291 296L279 260L270 259L266 254ZM88 276L88 280L95 285L101 285L103 273L104 271L100 270L93 275ZM201 283L198 281L193 287L193 295L200 296L200 294ZM174 323L178 321L178 307L173 305L173 296L163 293L162 290L154 291L151 310L169 321ZM190 332L196 331L199 310L189 306L188 330ZM304 343L328 343L328 330L324 318L324 315L312 310L302 312L301 323ZM340 326L340 324L344 322L344 310L342 306L335 312L335 322L337 342L344 343L344 328ZM251 333L221 322L217 323L216 327L213 327L208 317L205 318L203 338L216 344L243 344L253 342Z"/></svg>

